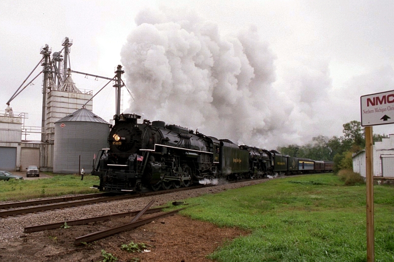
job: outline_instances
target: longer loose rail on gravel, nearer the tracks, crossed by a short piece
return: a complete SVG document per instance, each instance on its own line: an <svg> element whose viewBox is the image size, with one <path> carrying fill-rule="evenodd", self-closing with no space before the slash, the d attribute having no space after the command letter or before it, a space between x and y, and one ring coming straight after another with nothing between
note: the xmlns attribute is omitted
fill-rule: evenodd
<svg viewBox="0 0 394 262"><path fill-rule="evenodd" d="M161 212L161 211L163 211L163 209L164 209L164 207L151 208L151 209L146 210L144 214L153 214L153 213ZM51 223L51 224L26 226L24 228L23 232L24 233L33 233L33 232L38 232L38 231L43 231L43 230L56 229L56 228L60 228L62 225L65 225L65 223L67 223L67 225L86 225L86 224L95 223L95 222L111 221L112 219L119 218L119 217L135 216L139 212L141 212L141 211L138 210L138 211L124 212L124 213L115 213L115 214L106 215L106 216L62 221L62 222L56 222L56 223Z"/></svg>

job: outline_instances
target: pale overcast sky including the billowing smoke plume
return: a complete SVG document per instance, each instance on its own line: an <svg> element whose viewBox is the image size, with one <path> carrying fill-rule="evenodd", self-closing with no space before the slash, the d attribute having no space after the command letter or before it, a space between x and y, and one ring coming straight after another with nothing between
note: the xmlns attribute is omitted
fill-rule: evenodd
<svg viewBox="0 0 394 262"><path fill-rule="evenodd" d="M0 110L41 46L59 51L69 37L72 70L113 77L124 66L125 112L268 149L341 136L361 120L360 96L394 89L393 14L392 0L2 0ZM106 83L72 78L94 93ZM41 85L11 102L26 125L40 126ZM93 103L109 121L115 89Z"/></svg>

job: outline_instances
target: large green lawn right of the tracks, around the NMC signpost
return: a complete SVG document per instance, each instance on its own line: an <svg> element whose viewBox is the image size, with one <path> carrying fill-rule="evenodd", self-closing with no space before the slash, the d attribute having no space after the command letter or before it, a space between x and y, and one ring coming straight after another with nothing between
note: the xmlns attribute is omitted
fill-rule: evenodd
<svg viewBox="0 0 394 262"><path fill-rule="evenodd" d="M251 231L209 256L221 262L366 262L365 186L332 174L271 180L187 199L182 214ZM374 187L375 261L394 261L394 187Z"/></svg>

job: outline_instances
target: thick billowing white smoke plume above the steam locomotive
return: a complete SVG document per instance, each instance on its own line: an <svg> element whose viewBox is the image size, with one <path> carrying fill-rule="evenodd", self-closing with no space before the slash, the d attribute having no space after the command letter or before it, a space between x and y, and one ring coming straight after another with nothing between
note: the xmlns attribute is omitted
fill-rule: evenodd
<svg viewBox="0 0 394 262"><path fill-rule="evenodd" d="M149 9L135 22L121 51L134 97L128 112L267 149L299 139L289 117L302 109L274 86L275 55L257 28L223 37L196 15ZM302 88L289 91L307 110L313 97Z"/></svg>

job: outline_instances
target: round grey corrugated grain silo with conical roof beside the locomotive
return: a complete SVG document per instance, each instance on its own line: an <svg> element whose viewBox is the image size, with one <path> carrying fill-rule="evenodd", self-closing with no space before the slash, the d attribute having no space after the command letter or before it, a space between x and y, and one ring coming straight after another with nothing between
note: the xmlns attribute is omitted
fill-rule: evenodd
<svg viewBox="0 0 394 262"><path fill-rule="evenodd" d="M58 120L53 172L74 174L80 172L79 167L84 167L87 174L91 173L94 155L108 148L108 135L109 124L85 108Z"/></svg>

